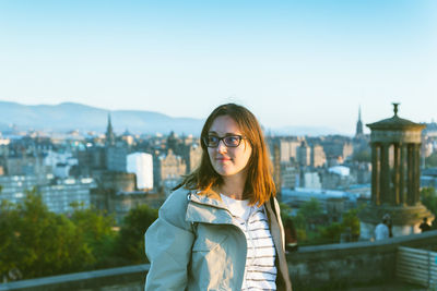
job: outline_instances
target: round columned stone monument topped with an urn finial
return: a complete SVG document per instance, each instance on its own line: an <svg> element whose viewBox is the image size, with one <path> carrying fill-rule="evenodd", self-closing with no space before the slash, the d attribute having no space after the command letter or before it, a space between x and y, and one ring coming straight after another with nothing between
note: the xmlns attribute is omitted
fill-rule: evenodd
<svg viewBox="0 0 437 291"><path fill-rule="evenodd" d="M393 237L421 232L424 217L434 215L421 203L420 161L423 124L394 116L366 124L371 145L371 203L359 213L361 238L374 237L385 215L392 220Z"/></svg>

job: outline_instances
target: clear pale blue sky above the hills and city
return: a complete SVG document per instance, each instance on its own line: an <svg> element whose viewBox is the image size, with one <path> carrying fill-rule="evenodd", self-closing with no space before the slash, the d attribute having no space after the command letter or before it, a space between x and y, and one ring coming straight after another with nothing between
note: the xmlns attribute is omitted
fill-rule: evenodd
<svg viewBox="0 0 437 291"><path fill-rule="evenodd" d="M0 100L355 131L437 120L437 1L0 1Z"/></svg>

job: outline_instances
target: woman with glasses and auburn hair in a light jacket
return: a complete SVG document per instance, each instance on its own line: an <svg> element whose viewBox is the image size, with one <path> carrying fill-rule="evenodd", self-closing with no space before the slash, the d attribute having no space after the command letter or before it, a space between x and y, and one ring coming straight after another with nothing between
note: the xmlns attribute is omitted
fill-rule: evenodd
<svg viewBox="0 0 437 291"><path fill-rule="evenodd" d="M269 150L245 107L217 107L199 168L145 233L146 290L291 290Z"/></svg>

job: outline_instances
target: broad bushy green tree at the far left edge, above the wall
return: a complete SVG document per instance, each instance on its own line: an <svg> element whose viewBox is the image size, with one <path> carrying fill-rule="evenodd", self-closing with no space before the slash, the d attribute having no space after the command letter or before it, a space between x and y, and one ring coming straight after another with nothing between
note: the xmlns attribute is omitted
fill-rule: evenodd
<svg viewBox="0 0 437 291"><path fill-rule="evenodd" d="M94 263L74 223L50 213L35 189L22 204L2 203L0 225L3 274L19 268L23 278L34 278L82 270Z"/></svg>

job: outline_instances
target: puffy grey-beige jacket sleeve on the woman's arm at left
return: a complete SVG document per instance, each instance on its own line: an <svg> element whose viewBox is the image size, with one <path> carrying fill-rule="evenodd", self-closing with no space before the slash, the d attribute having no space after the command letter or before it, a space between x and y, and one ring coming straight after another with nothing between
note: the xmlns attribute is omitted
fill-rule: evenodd
<svg viewBox="0 0 437 291"><path fill-rule="evenodd" d="M145 254L151 263L145 290L185 290L188 264L194 240L186 222L187 197L173 193L161 207L160 216L145 233Z"/></svg>

